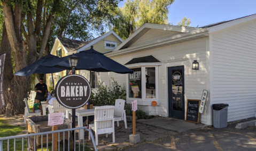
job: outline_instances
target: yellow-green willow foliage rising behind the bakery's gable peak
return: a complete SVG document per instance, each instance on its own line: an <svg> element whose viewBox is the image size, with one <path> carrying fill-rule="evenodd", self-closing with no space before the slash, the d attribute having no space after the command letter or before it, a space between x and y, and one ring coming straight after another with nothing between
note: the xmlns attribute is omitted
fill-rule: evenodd
<svg viewBox="0 0 256 151"><path fill-rule="evenodd" d="M174 0L129 0L112 12L109 28L122 39L128 38L143 23L168 24L169 6Z"/></svg>

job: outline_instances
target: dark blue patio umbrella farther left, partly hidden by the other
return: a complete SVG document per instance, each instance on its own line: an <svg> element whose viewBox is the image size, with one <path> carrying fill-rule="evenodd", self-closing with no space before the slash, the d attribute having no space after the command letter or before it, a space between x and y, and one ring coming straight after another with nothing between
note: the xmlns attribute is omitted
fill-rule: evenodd
<svg viewBox="0 0 256 151"><path fill-rule="evenodd" d="M29 64L25 68L15 72L14 75L24 77L24 76L29 76L33 73L46 74L46 73L55 73L55 72L63 71L63 70L65 70L63 68L44 66L45 62L53 61L58 58L59 57L57 57L55 55L51 55L51 54L46 55L44 57L41 57L40 60L38 60L32 64ZM52 82L53 82L53 79L52 79ZM53 83L53 89L54 89L54 83Z"/></svg>

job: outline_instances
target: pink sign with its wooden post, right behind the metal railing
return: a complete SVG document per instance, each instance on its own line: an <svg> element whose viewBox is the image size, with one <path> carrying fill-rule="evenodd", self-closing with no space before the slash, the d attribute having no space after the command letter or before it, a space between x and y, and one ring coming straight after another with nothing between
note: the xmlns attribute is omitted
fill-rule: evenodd
<svg viewBox="0 0 256 151"><path fill-rule="evenodd" d="M64 113L56 112L48 114L48 125L52 126L52 131L58 130L58 125L64 123ZM57 151L58 148L58 133L53 133L52 148Z"/></svg>

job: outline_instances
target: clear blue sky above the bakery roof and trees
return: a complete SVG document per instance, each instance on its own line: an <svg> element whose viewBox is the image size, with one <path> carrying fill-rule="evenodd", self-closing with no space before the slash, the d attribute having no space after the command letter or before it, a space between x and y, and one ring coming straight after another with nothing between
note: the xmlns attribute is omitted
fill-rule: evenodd
<svg viewBox="0 0 256 151"><path fill-rule="evenodd" d="M168 22L177 25L186 16L191 27L201 27L255 13L256 0L175 0L169 7Z"/></svg>

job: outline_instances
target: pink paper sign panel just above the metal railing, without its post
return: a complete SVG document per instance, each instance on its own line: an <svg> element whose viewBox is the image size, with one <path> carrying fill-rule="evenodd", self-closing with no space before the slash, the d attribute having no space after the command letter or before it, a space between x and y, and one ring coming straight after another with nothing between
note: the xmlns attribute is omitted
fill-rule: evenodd
<svg viewBox="0 0 256 151"><path fill-rule="evenodd" d="M64 123L64 113L50 113L48 114L48 126L61 125Z"/></svg>

